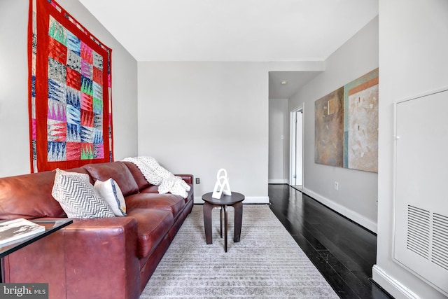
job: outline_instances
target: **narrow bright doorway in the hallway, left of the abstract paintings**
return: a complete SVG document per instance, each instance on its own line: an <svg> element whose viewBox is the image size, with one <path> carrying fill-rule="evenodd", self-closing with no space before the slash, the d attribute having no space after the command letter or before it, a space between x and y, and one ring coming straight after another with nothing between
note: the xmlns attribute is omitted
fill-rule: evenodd
<svg viewBox="0 0 448 299"><path fill-rule="evenodd" d="M290 113L290 186L303 186L303 104Z"/></svg>

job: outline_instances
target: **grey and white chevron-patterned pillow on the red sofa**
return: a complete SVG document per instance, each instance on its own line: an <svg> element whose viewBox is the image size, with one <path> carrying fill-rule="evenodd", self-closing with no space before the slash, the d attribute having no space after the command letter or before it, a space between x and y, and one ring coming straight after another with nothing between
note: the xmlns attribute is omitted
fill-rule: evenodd
<svg viewBox="0 0 448 299"><path fill-rule="evenodd" d="M111 206L94 189L88 174L56 169L51 195L69 218L114 217Z"/></svg>

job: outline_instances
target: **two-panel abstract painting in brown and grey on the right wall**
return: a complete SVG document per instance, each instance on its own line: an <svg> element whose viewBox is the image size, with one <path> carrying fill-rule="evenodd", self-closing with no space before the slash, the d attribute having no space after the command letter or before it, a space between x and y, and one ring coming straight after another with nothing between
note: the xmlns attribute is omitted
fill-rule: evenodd
<svg viewBox="0 0 448 299"><path fill-rule="evenodd" d="M378 69L314 102L314 162L378 172Z"/></svg>

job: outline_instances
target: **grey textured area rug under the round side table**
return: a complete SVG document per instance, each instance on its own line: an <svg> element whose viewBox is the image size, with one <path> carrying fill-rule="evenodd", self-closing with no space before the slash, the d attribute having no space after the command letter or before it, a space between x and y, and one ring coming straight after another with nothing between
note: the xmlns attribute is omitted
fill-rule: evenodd
<svg viewBox="0 0 448 299"><path fill-rule="evenodd" d="M207 245L202 205L195 205L148 281L146 298L339 298L267 205L244 205L241 240L228 252L213 211ZM223 236L224 237L224 236Z"/></svg>

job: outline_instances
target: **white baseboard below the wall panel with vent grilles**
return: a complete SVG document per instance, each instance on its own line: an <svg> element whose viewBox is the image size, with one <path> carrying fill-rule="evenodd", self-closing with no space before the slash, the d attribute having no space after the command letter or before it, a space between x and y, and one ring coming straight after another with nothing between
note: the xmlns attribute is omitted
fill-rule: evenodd
<svg viewBox="0 0 448 299"><path fill-rule="evenodd" d="M420 297L402 285L400 281L389 276L381 267L373 265L372 279L396 299L419 299Z"/></svg>

